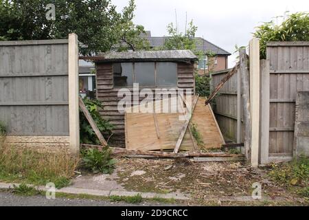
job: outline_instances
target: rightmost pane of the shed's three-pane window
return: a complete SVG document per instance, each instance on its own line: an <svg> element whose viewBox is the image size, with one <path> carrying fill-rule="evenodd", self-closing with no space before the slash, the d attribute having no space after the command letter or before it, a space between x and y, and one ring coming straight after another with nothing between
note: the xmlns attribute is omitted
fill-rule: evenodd
<svg viewBox="0 0 309 220"><path fill-rule="evenodd" d="M176 63L157 63L157 86L177 85Z"/></svg>

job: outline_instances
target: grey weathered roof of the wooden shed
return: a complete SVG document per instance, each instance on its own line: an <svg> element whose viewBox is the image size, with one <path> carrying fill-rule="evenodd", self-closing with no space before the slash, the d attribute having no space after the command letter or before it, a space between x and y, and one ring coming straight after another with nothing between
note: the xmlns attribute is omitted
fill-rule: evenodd
<svg viewBox="0 0 309 220"><path fill-rule="evenodd" d="M107 52L95 57L95 63L146 61L197 61L191 50L158 50L137 52Z"/></svg>

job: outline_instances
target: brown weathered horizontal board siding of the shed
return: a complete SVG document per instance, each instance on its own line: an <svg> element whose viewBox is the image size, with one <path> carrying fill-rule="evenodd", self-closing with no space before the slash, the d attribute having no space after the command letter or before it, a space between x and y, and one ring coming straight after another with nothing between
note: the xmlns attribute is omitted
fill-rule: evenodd
<svg viewBox="0 0 309 220"><path fill-rule="evenodd" d="M113 87L113 65L112 63L98 63L97 70L97 98L102 101L104 109L100 114L115 126L113 138L124 142L124 113L117 110L118 101L122 97L117 97L120 88ZM178 88L193 89L194 91L194 65L178 63ZM128 88L132 90L133 88ZM155 94L155 87L150 87ZM170 89L170 88L168 88ZM175 88L177 89L177 88ZM142 98L140 98L141 100ZM132 96L133 100L133 96Z"/></svg>

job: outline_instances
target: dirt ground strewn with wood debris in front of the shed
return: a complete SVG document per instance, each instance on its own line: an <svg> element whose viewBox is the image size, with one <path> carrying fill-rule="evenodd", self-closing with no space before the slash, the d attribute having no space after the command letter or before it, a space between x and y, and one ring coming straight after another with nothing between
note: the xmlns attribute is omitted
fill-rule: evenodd
<svg viewBox="0 0 309 220"><path fill-rule="evenodd" d="M268 168L244 162L195 163L190 159L117 158L117 183L140 192L190 194L189 205L308 206L308 200L277 186ZM262 199L251 195L253 183L262 184Z"/></svg>

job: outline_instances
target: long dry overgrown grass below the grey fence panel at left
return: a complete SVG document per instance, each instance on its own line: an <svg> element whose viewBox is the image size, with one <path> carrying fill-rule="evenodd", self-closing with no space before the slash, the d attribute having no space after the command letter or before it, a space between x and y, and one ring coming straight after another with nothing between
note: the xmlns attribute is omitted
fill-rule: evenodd
<svg viewBox="0 0 309 220"><path fill-rule="evenodd" d="M38 152L0 142L0 180L45 185L56 188L70 184L79 159L63 150L57 153Z"/></svg>

